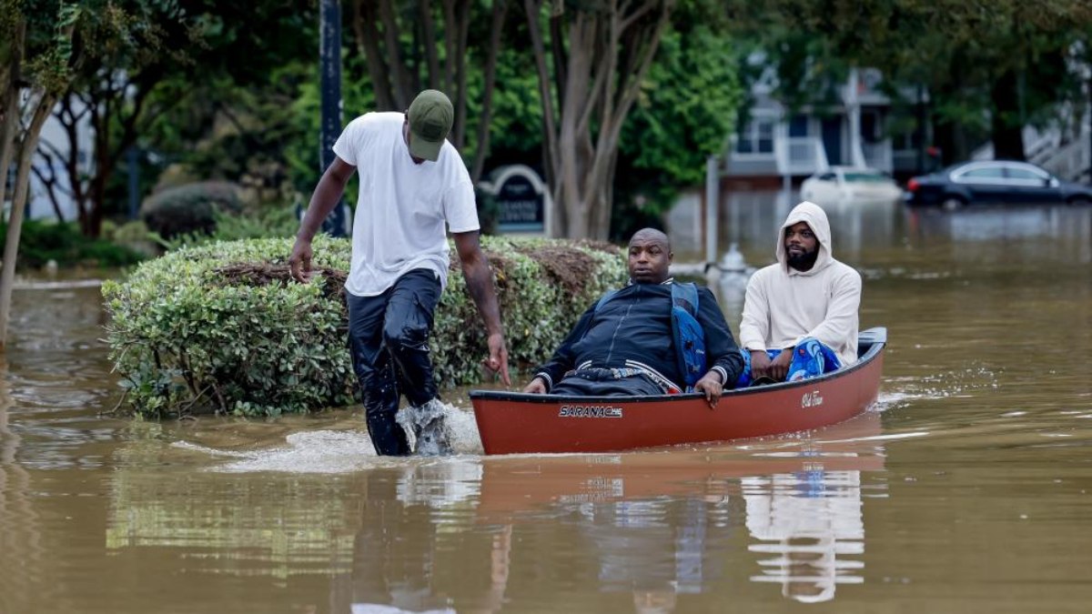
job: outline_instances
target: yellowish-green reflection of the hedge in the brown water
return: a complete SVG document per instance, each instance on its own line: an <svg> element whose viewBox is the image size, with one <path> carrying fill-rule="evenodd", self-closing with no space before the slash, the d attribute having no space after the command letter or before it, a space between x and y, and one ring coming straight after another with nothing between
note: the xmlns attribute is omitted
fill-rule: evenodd
<svg viewBox="0 0 1092 614"><path fill-rule="evenodd" d="M348 567L346 501L313 475L194 471L195 454L164 448L157 425L134 423L117 452L106 547L179 548L194 568L287 578ZM248 501L253 501L248 503ZM221 552L207 560L202 553Z"/></svg>

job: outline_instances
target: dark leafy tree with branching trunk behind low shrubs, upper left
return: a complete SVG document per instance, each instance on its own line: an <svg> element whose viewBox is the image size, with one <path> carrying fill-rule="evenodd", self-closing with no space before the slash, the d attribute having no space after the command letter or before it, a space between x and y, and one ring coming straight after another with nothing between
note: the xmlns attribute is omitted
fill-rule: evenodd
<svg viewBox="0 0 1092 614"><path fill-rule="evenodd" d="M118 36L122 33L110 31L112 22L87 20L79 39L81 69L54 114L67 143L41 147L44 156L62 162L67 185L57 188L75 202L87 236L98 236L114 174L142 134L183 103L193 106L191 115L225 108L229 91L209 85L223 85L224 75L233 84L263 79L264 69L300 52L304 37L313 32L301 25L317 19L313 7L300 10L282 0L245 7L213 0L112 0L103 11L123 15L129 25ZM240 57L247 61L238 61ZM197 99L194 92L206 97ZM86 152L78 138L78 127L85 121L94 133L90 174L81 172L80 158ZM210 123L210 116L201 121ZM51 165L40 179L47 186L57 184Z"/></svg>

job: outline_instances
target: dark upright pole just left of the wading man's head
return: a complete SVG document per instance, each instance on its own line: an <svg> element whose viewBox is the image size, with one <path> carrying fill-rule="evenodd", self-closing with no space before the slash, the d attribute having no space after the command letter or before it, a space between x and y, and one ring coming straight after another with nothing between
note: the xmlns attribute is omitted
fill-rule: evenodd
<svg viewBox="0 0 1092 614"><path fill-rule="evenodd" d="M342 130L341 119L341 2L321 0L319 8L319 88L322 98L322 120L319 130L319 174L334 161L333 146ZM339 201L322 222L322 232L344 237L349 234L348 206Z"/></svg>

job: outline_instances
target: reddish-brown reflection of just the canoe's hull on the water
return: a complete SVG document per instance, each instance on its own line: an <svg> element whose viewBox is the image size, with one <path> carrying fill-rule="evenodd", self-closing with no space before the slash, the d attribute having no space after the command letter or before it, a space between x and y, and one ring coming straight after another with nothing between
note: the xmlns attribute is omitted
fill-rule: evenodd
<svg viewBox="0 0 1092 614"><path fill-rule="evenodd" d="M883 452L873 438L880 415L865 412L805 439L767 441L669 453L517 456L484 461L477 513L486 522L534 517L551 505L610 503L672 495L739 495L746 476L809 472L882 471ZM791 494L791 493L790 493Z"/></svg>

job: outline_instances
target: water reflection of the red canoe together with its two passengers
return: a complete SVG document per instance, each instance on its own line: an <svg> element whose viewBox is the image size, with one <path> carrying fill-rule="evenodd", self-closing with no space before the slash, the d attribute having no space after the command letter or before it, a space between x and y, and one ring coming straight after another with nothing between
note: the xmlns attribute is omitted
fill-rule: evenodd
<svg viewBox="0 0 1092 614"><path fill-rule="evenodd" d="M574 571L587 569L594 591L627 595L637 612L670 612L729 583L728 571L741 569L728 565L739 557L739 528L755 540L748 551L771 552L770 540L788 544L781 557L787 560L810 556L799 541L815 540L827 557L815 563L815 574L843 578L830 580L822 599L831 599L834 581L850 578L850 562L834 555L863 550L860 475L882 470L879 425L879 415L867 413L814 437L744 448L488 459L476 515L487 524L561 519L573 534L551 541L575 545L568 553L559 545L556 556ZM808 581L827 582L826 576L785 576L786 590ZM807 600L795 597L799 591L786 594Z"/></svg>

